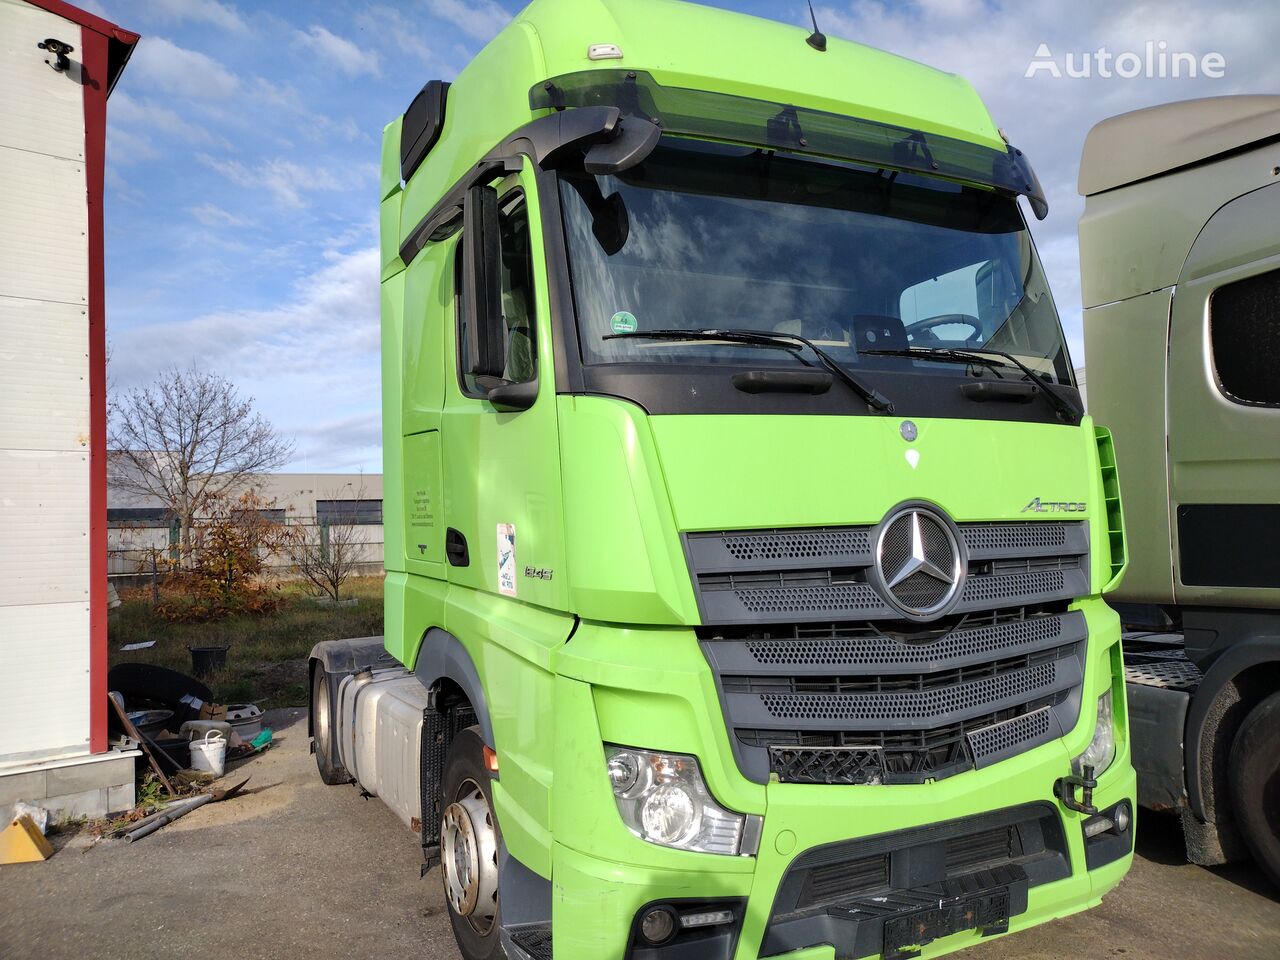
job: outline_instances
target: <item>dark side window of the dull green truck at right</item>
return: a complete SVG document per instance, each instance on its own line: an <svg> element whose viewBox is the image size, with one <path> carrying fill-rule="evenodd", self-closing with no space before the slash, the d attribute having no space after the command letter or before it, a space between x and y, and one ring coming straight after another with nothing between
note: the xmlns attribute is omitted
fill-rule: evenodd
<svg viewBox="0 0 1280 960"><path fill-rule="evenodd" d="M1222 392L1240 403L1280 406L1280 270L1213 291L1208 332Z"/></svg>

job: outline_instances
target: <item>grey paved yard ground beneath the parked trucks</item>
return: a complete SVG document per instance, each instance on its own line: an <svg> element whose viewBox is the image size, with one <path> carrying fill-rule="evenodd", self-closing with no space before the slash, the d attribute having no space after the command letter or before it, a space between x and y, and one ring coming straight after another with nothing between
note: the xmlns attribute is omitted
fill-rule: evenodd
<svg viewBox="0 0 1280 960"><path fill-rule="evenodd" d="M137 844L73 840L0 868L4 960L457 960L436 874L376 800L315 777L300 710L244 764L253 792ZM1178 827L1144 817L1129 878L1085 914L997 938L965 960L1280 959L1280 900L1249 867L1181 861Z"/></svg>

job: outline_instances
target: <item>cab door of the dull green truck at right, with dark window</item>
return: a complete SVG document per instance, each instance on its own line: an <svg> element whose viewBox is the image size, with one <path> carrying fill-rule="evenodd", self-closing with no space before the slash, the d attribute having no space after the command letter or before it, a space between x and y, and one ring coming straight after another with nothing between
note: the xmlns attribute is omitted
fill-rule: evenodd
<svg viewBox="0 0 1280 960"><path fill-rule="evenodd" d="M1280 603L1280 184L1222 206L1174 294L1169 476L1180 603Z"/></svg>

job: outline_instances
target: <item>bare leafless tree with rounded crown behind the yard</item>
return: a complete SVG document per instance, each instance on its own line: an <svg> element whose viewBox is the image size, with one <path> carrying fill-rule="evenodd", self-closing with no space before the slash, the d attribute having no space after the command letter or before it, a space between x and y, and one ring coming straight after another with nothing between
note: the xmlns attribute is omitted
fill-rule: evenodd
<svg viewBox="0 0 1280 960"><path fill-rule="evenodd" d="M184 563L198 512L212 498L248 488L293 453L292 442L253 412L252 397L196 367L173 367L150 387L119 396L109 442L111 483L156 497L173 511Z"/></svg>

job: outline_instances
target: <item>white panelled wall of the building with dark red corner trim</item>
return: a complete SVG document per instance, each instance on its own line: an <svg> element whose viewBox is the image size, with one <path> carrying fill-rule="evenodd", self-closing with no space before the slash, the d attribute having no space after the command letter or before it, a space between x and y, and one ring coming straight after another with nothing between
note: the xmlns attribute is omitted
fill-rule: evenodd
<svg viewBox="0 0 1280 960"><path fill-rule="evenodd" d="M84 100L46 37L82 46L0 0L0 765L90 748Z"/></svg>

